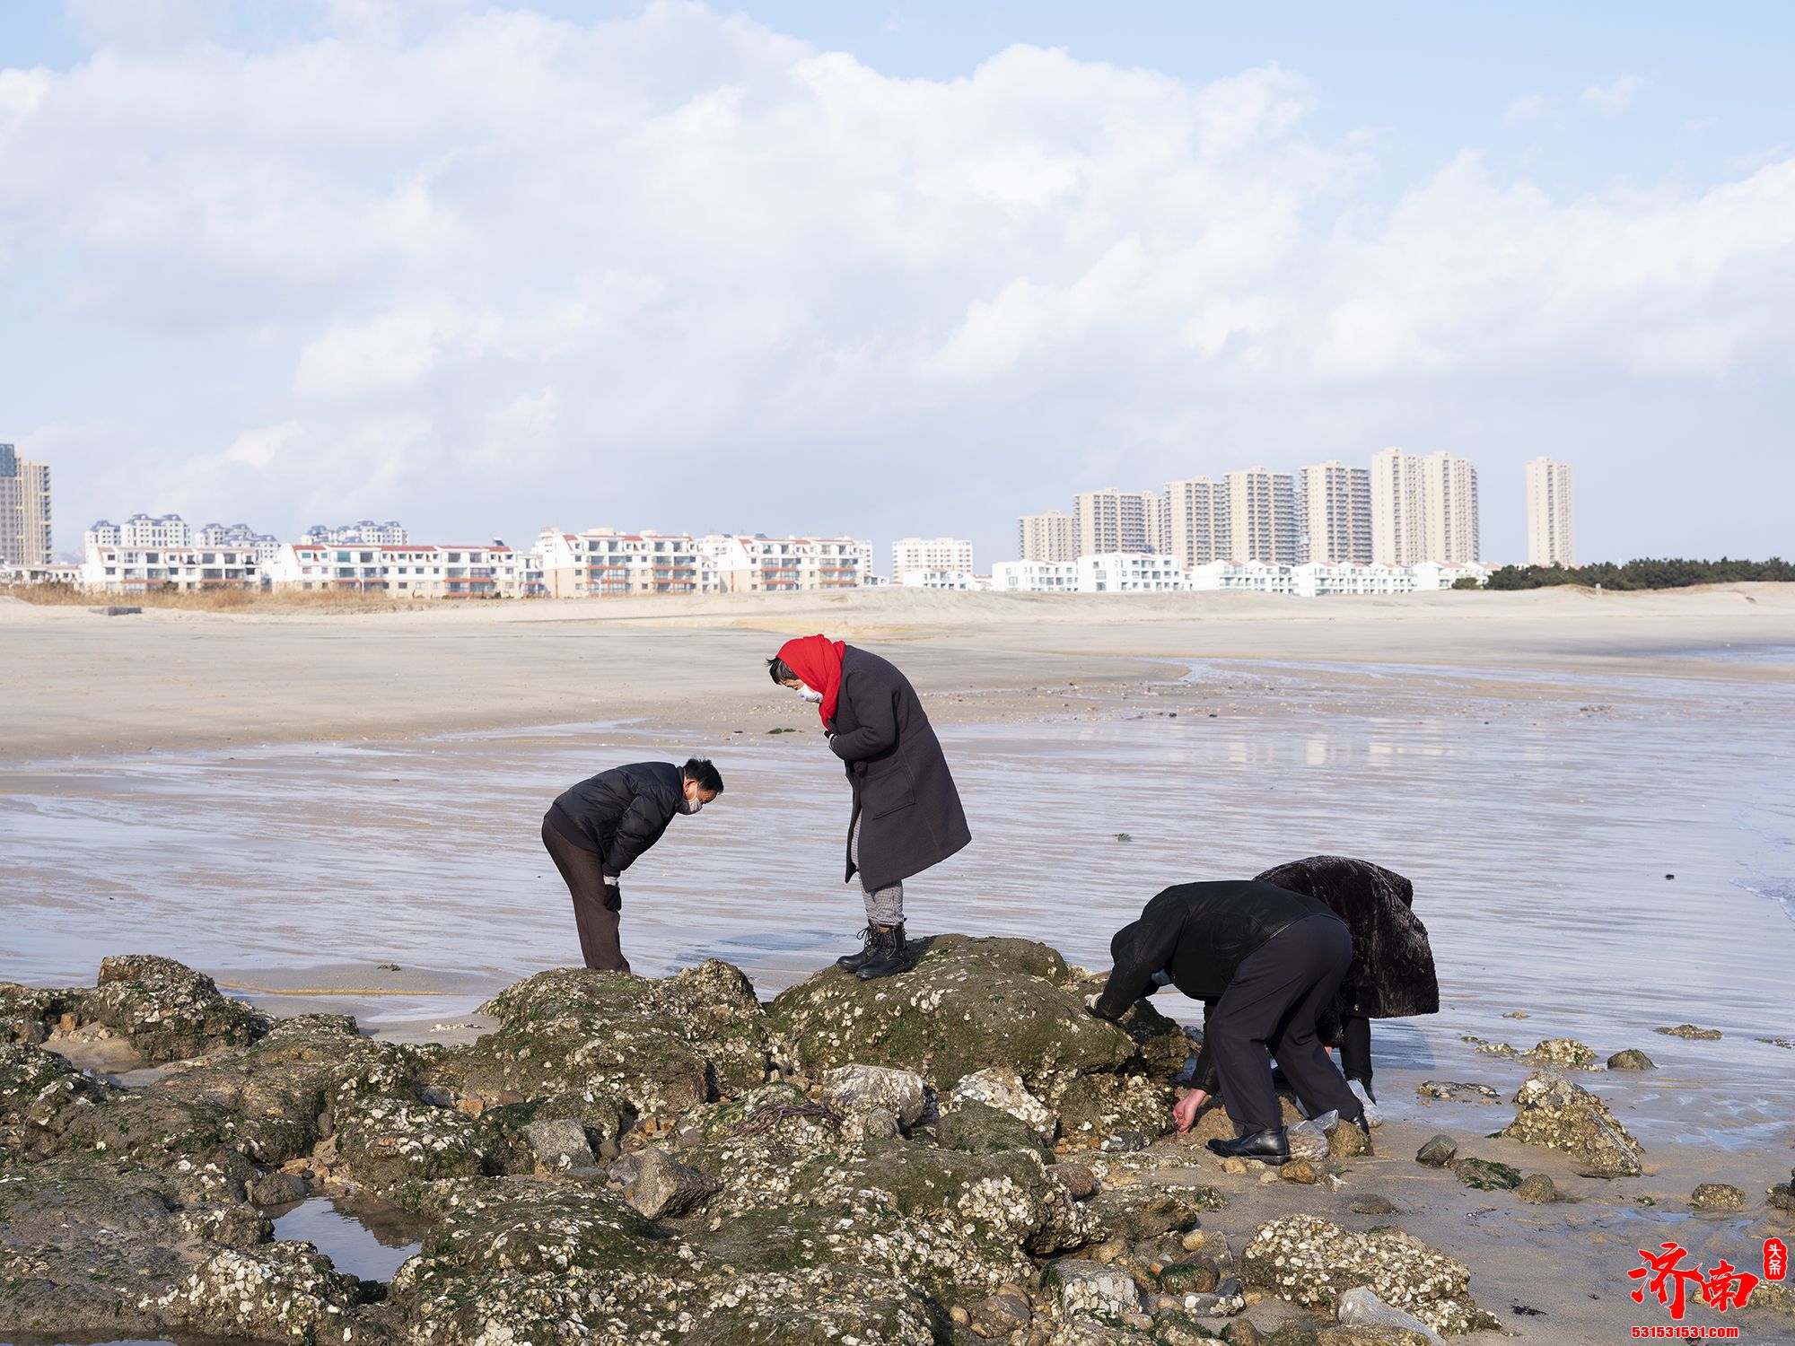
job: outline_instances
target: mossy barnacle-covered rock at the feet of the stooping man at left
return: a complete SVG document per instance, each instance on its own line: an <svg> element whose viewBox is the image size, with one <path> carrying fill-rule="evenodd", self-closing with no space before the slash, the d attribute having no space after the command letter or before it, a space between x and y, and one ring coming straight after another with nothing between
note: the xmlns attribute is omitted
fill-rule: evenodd
<svg viewBox="0 0 1795 1346"><path fill-rule="evenodd" d="M679 1116L766 1077L766 1016L723 962L666 980L560 967L499 992L499 1028L445 1055L442 1079L472 1093L542 1098L598 1091Z"/></svg>

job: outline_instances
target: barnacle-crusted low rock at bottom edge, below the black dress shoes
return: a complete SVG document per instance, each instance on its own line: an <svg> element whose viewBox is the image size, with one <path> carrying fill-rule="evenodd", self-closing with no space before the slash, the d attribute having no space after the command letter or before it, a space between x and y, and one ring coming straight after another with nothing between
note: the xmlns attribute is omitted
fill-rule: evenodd
<svg viewBox="0 0 1795 1346"><path fill-rule="evenodd" d="M1400 1229L1355 1233L1314 1215L1285 1215L1253 1231L1240 1276L1305 1307L1332 1307L1366 1285L1434 1332L1495 1326L1470 1298L1470 1271Z"/></svg>

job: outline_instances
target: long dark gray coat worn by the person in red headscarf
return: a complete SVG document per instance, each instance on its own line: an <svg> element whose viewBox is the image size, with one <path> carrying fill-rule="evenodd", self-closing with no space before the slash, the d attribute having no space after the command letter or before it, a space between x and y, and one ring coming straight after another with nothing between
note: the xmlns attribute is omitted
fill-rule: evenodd
<svg viewBox="0 0 1795 1346"><path fill-rule="evenodd" d="M829 729L829 747L854 791L847 836L858 822L863 887L889 888L973 840L941 739L915 687L892 664L847 646ZM851 849L845 878L854 878Z"/></svg>

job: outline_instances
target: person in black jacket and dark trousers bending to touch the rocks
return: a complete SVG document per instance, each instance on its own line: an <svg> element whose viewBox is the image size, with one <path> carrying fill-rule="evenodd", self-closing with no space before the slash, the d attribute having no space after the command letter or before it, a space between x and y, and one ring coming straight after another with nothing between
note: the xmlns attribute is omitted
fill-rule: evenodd
<svg viewBox="0 0 1795 1346"><path fill-rule="evenodd" d="M1213 1064L1239 1136L1212 1140L1224 1156L1291 1158L1271 1057L1310 1116L1364 1125L1364 1107L1328 1059L1318 1021L1352 964L1346 924L1314 897L1255 879L1167 888L1109 942L1115 969L1086 1005L1118 1019L1142 996L1174 985L1203 1001L1199 1079ZM1188 1106L1186 1106L1188 1104ZM1174 1111L1188 1131L1195 1102Z"/></svg>

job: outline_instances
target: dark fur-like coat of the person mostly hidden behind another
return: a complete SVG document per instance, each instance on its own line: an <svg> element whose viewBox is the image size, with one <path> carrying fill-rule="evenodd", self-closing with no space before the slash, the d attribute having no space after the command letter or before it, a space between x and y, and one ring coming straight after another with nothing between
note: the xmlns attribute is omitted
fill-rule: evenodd
<svg viewBox="0 0 1795 1346"><path fill-rule="evenodd" d="M1440 1012L1434 951L1427 926L1411 910L1414 885L1402 874L1370 860L1309 856L1267 869L1258 881L1314 897L1352 930L1352 967L1334 1000L1337 1016L1402 1019Z"/></svg>

